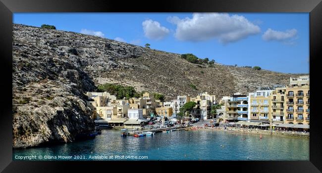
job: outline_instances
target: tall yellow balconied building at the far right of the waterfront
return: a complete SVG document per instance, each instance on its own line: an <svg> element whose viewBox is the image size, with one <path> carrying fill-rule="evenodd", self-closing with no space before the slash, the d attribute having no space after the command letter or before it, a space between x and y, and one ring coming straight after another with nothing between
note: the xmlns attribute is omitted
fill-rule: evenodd
<svg viewBox="0 0 322 173"><path fill-rule="evenodd" d="M290 78L286 86L286 124L310 124L310 77Z"/></svg>

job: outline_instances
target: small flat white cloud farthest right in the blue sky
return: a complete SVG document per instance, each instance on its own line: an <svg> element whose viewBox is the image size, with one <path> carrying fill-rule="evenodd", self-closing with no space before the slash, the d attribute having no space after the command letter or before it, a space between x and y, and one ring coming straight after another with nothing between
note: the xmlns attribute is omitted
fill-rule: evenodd
<svg viewBox="0 0 322 173"><path fill-rule="evenodd" d="M274 31L270 28L263 34L262 38L265 41L289 41L292 39L296 39L297 30L291 29L286 30L285 32L282 31Z"/></svg>

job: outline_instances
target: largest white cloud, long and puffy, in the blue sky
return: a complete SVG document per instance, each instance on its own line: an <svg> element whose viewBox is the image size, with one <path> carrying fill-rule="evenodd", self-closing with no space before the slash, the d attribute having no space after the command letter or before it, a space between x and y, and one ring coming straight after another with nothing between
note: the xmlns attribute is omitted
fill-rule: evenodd
<svg viewBox="0 0 322 173"><path fill-rule="evenodd" d="M175 24L174 36L181 41L205 41L216 38L221 43L236 42L261 32L259 26L244 16L227 13L193 13L192 18L168 17Z"/></svg>

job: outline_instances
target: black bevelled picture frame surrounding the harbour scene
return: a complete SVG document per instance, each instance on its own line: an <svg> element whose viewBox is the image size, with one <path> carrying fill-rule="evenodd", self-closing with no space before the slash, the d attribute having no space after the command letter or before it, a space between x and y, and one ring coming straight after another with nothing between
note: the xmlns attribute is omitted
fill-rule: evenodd
<svg viewBox="0 0 322 173"><path fill-rule="evenodd" d="M0 171L8 172L84 172L100 171L201 171L256 173L320 173L322 171L322 126L318 113L319 58L322 47L321 0L0 0ZM15 12L309 12L311 122L310 161L149 161L149 162L49 162L12 161L12 13ZM320 97L321 98L321 97ZM313 106L312 106L313 105ZM282 148L281 148L282 149ZM152 165L140 168L139 165ZM172 167L172 168L169 168ZM161 168L161 169L159 169ZM116 170L115 170L116 169ZM162 171L162 172L163 172ZM208 172L207 171L207 172Z"/></svg>

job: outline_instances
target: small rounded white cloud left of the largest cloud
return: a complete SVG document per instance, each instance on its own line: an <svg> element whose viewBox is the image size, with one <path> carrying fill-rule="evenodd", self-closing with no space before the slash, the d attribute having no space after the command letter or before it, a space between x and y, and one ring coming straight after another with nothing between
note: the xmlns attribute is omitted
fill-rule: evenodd
<svg viewBox="0 0 322 173"><path fill-rule="evenodd" d="M159 22L151 19L142 22L145 37L152 40L161 40L169 34L169 29L160 25Z"/></svg>

